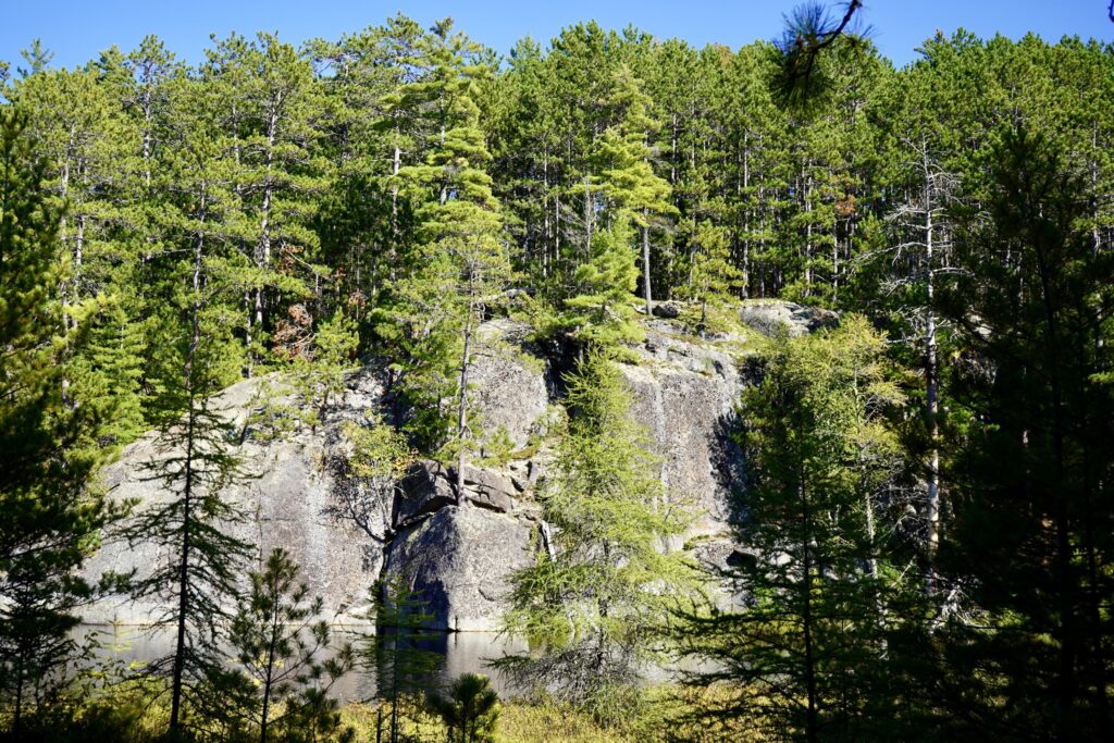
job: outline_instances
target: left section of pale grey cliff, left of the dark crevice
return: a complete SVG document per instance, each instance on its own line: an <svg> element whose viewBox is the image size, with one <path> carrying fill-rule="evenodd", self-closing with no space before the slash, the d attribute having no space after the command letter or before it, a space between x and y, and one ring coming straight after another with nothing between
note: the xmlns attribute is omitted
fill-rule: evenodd
<svg viewBox="0 0 1114 743"><path fill-rule="evenodd" d="M391 534L391 493L375 492L349 476L345 421L367 424L381 398L382 388L370 371L354 374L336 412L315 431L270 439L253 430L250 418L258 408L257 395L268 380L248 380L225 390L215 409L242 432L236 453L245 477L231 485L224 496L245 520L229 531L260 554L274 547L286 549L301 565L313 595L321 596L329 614L358 619L369 604L369 587L383 564L383 546ZM282 392L266 390L267 394ZM139 508L165 498L150 477L152 462L173 456L162 450L154 434L125 449L106 468L104 483L113 498L136 500ZM162 556L148 542L110 542L87 566L90 576L105 570L145 570ZM144 603L106 599L86 613L89 622L118 620L145 624L158 616L157 607Z"/></svg>

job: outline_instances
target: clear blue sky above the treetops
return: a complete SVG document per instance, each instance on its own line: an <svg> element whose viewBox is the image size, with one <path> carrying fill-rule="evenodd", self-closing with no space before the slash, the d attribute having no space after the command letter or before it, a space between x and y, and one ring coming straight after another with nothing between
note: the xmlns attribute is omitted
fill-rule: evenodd
<svg viewBox="0 0 1114 743"><path fill-rule="evenodd" d="M21 61L20 49L38 37L55 52L55 65L74 66L114 43L126 51L144 35L156 33L179 57L196 62L211 32L225 36L232 30L266 29L294 42L334 39L378 25L398 11L427 26L451 16L458 28L502 52L522 36L548 41L564 26L590 19L613 28L634 22L655 36L734 48L776 37L782 14L798 1L3 0L8 7L0 11L0 59L14 67ZM984 38L996 32L1018 38L1036 31L1053 41L1064 35L1114 41L1107 1L867 0L864 21L873 27L882 53L902 65L915 58L916 47L936 29L950 33L964 27Z"/></svg>

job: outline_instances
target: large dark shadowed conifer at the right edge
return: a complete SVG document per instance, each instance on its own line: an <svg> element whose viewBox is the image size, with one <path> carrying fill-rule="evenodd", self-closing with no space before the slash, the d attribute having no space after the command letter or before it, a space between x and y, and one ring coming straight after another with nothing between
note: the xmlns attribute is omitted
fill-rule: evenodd
<svg viewBox="0 0 1114 743"><path fill-rule="evenodd" d="M1020 126L994 154L991 218L961 231L962 271L941 292L961 341L949 391L971 420L947 471L955 534L940 561L979 616L946 626L946 667L975 686L965 712L984 730L1100 740L1112 724L1112 545L1096 525L1111 519L1114 441L1100 339L1114 263L1095 250L1085 187L1058 148Z"/></svg>

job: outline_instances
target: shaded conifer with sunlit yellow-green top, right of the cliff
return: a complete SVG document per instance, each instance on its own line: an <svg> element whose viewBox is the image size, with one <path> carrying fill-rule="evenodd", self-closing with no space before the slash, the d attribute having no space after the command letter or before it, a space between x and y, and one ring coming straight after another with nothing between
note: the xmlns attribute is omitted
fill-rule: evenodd
<svg viewBox="0 0 1114 743"><path fill-rule="evenodd" d="M690 680L729 684L707 717L808 741L895 735L890 638L920 583L902 576L893 538L907 502L885 418L901 401L890 373L882 339L849 316L783 341L745 395L747 557L726 571L745 603L684 613L676 628L684 654L712 668Z"/></svg>

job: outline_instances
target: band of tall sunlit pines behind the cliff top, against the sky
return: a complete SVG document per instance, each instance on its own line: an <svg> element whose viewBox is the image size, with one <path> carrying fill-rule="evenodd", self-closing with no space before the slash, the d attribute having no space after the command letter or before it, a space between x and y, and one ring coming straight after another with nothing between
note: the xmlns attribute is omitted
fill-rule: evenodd
<svg viewBox="0 0 1114 743"><path fill-rule="evenodd" d="M786 111L764 42L694 49L583 25L500 60L397 18L301 48L218 39L197 67L155 38L72 70L51 69L35 47L6 96L29 115L70 205L67 301L114 297L101 312L119 338L104 345L121 351L102 366L157 359L147 326L198 232L236 284L241 371L341 307L368 341L374 310L420 260L424 194L412 170L455 125L463 87L519 283L555 305L577 293L592 236L627 189L638 192L654 299L698 299L694 266L712 244L737 272L725 290L736 296L900 314L887 287L922 270L918 251L896 246L916 231L908 216L926 177L939 205L977 209L987 153L1012 123L1039 130L1085 176L1085 218L1110 243L1114 82L1101 45L960 32L926 40L902 70L869 43L822 63L827 95ZM631 121L636 104L644 114ZM644 137L645 151L617 154L609 130ZM617 159L643 156L647 173ZM938 250L946 265L949 241ZM110 372L115 395L135 395L129 434L145 424L141 366Z"/></svg>

